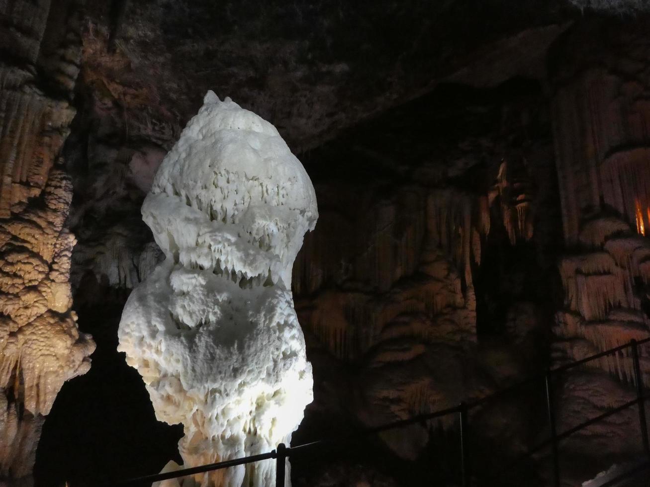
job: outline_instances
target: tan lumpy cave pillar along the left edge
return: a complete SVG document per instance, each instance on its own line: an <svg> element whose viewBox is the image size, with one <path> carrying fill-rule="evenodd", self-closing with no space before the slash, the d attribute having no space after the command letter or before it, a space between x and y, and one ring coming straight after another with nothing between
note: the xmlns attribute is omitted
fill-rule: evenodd
<svg viewBox="0 0 650 487"><path fill-rule="evenodd" d="M44 416L94 350L72 311L59 158L81 13L76 0L15 0L0 1L0 18L0 479L29 485Z"/></svg>

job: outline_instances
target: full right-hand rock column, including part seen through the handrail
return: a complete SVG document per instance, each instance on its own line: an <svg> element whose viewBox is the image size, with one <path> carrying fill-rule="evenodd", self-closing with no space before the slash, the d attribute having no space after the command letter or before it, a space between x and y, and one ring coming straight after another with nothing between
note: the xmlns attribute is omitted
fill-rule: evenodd
<svg viewBox="0 0 650 487"><path fill-rule="evenodd" d="M578 23L551 50L558 182L568 255L552 360L562 364L650 336L650 19ZM650 384L647 347L642 379ZM632 399L630 349L562 376L558 421L568 429ZM630 453L636 411L574 435L581 455ZM625 417L624 417L625 416ZM595 452L598 452L597 454Z"/></svg>

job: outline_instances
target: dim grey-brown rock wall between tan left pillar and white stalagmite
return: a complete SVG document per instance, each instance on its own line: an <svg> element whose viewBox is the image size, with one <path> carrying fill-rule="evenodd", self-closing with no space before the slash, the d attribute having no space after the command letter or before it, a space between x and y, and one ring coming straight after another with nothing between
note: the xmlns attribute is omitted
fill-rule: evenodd
<svg viewBox="0 0 650 487"><path fill-rule="evenodd" d="M79 115L66 153L75 188L70 228L79 240L72 283L130 290L162 258L139 208L180 127L159 94L135 79L131 61L109 52L109 32L91 23L82 41Z"/></svg>

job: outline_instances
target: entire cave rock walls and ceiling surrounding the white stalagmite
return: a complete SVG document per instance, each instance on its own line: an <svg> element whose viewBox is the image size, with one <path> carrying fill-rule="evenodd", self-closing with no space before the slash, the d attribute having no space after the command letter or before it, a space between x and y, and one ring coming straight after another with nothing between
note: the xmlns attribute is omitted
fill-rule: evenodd
<svg viewBox="0 0 650 487"><path fill-rule="evenodd" d="M643 2L353 4L0 0L0 483L181 461L117 332L164 258L140 206L209 89L273 123L317 195L292 274L314 377L293 444L650 336ZM472 410L477 479L545 438L543 385ZM552 386L564 431L634 398L632 358ZM638 454L637 415L563 442L567 485ZM457 435L449 417L296 458L292 484L458 484ZM549 485L547 460L497 485Z"/></svg>

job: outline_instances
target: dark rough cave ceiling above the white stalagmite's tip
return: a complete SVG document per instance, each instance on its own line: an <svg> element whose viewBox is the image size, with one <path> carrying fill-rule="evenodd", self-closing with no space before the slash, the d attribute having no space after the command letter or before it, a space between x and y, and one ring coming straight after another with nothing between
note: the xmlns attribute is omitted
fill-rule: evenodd
<svg viewBox="0 0 650 487"><path fill-rule="evenodd" d="M541 79L548 45L580 16L562 0L87 8L81 84L146 126L146 138L168 147L212 89L273 121L298 153L439 82Z"/></svg>

